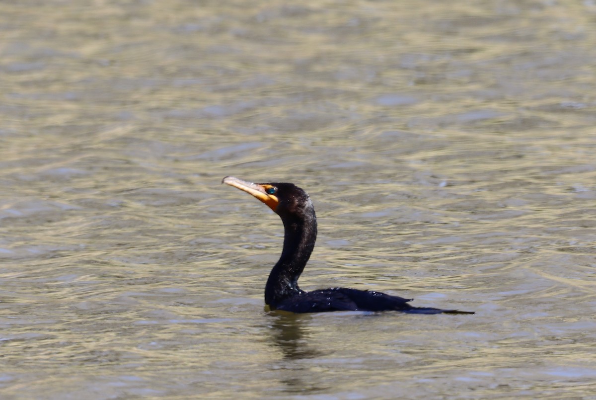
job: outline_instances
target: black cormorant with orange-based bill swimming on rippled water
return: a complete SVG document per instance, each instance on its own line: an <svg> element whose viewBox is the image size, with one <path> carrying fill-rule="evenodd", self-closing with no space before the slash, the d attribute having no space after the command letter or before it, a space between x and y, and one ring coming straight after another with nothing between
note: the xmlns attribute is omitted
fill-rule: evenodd
<svg viewBox="0 0 596 400"><path fill-rule="evenodd" d="M316 240L315 208L308 194L289 183L253 184L233 176L226 176L222 183L252 194L274 210L284 223L284 248L265 286L265 304L269 309L290 312L395 310L411 314L474 314L471 311L414 307L408 304L411 299L368 290L343 287L312 292L301 290L298 278Z"/></svg>

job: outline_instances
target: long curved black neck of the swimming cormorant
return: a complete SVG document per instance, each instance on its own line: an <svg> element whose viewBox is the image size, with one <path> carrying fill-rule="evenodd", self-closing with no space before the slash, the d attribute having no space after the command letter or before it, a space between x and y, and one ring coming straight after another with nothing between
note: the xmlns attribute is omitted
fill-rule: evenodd
<svg viewBox="0 0 596 400"><path fill-rule="evenodd" d="M298 278L316 241L315 209L310 199L303 206L299 212L280 213L284 222L284 249L265 286L265 304L272 308L281 300L302 293Z"/></svg>

